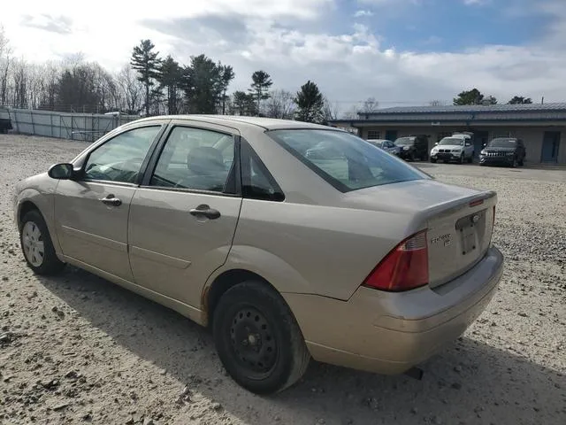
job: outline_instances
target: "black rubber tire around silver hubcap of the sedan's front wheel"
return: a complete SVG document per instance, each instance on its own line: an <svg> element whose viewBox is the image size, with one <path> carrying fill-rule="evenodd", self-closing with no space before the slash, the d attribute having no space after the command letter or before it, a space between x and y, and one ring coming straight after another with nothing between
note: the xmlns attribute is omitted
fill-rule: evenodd
<svg viewBox="0 0 566 425"><path fill-rule="evenodd" d="M26 226L28 223L30 227L35 226L39 229L40 236L37 240L43 243L43 255L40 264L38 264L37 261L34 261L34 259L28 258L28 254L26 252L24 239L26 237L25 229L27 228ZM32 210L24 215L24 218L21 220L21 228L19 229L19 244L21 246L21 251L24 254L24 258L26 259L27 267L31 268L35 274L43 276L57 274L63 269L63 267L65 267L65 263L57 259L55 248L53 248L53 243L51 242L50 232L45 224L45 220L43 220L42 214L39 211ZM36 257L36 259L39 259L39 257Z"/></svg>

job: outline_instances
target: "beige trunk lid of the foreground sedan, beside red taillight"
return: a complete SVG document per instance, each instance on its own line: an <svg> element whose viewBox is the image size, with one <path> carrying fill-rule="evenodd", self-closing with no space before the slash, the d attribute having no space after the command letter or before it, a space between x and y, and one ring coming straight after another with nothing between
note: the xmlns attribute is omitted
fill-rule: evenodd
<svg viewBox="0 0 566 425"><path fill-rule="evenodd" d="M405 236L426 228L429 285L434 288L465 273L491 244L497 195L434 180L417 180L346 194L348 204L407 216Z"/></svg>

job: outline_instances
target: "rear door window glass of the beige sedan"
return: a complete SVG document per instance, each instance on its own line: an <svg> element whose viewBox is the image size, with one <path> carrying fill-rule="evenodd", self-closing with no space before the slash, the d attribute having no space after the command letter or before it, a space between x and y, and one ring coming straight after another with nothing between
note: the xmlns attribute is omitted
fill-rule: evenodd
<svg viewBox="0 0 566 425"><path fill-rule="evenodd" d="M233 135L201 128L173 128L149 185L232 193L226 188L233 176L234 148Z"/></svg>

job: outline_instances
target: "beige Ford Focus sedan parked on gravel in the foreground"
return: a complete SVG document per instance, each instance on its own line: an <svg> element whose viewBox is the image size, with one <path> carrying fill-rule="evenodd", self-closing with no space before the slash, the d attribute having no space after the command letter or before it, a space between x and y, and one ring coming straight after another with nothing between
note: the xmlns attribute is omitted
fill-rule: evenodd
<svg viewBox="0 0 566 425"><path fill-rule="evenodd" d="M259 394L311 357L416 371L482 313L503 267L493 191L297 121L136 120L15 192L34 273L68 263L210 328L228 374Z"/></svg>

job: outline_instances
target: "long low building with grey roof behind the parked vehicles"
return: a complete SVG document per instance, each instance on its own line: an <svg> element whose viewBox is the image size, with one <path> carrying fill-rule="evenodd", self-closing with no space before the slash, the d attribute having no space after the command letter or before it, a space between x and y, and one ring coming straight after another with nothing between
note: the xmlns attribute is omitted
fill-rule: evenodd
<svg viewBox="0 0 566 425"><path fill-rule="evenodd" d="M394 107L358 112L356 120L333 120L329 125L363 139L427 135L429 152L443 137L469 131L476 158L493 138L516 137L524 141L527 164L566 165L566 103Z"/></svg>

